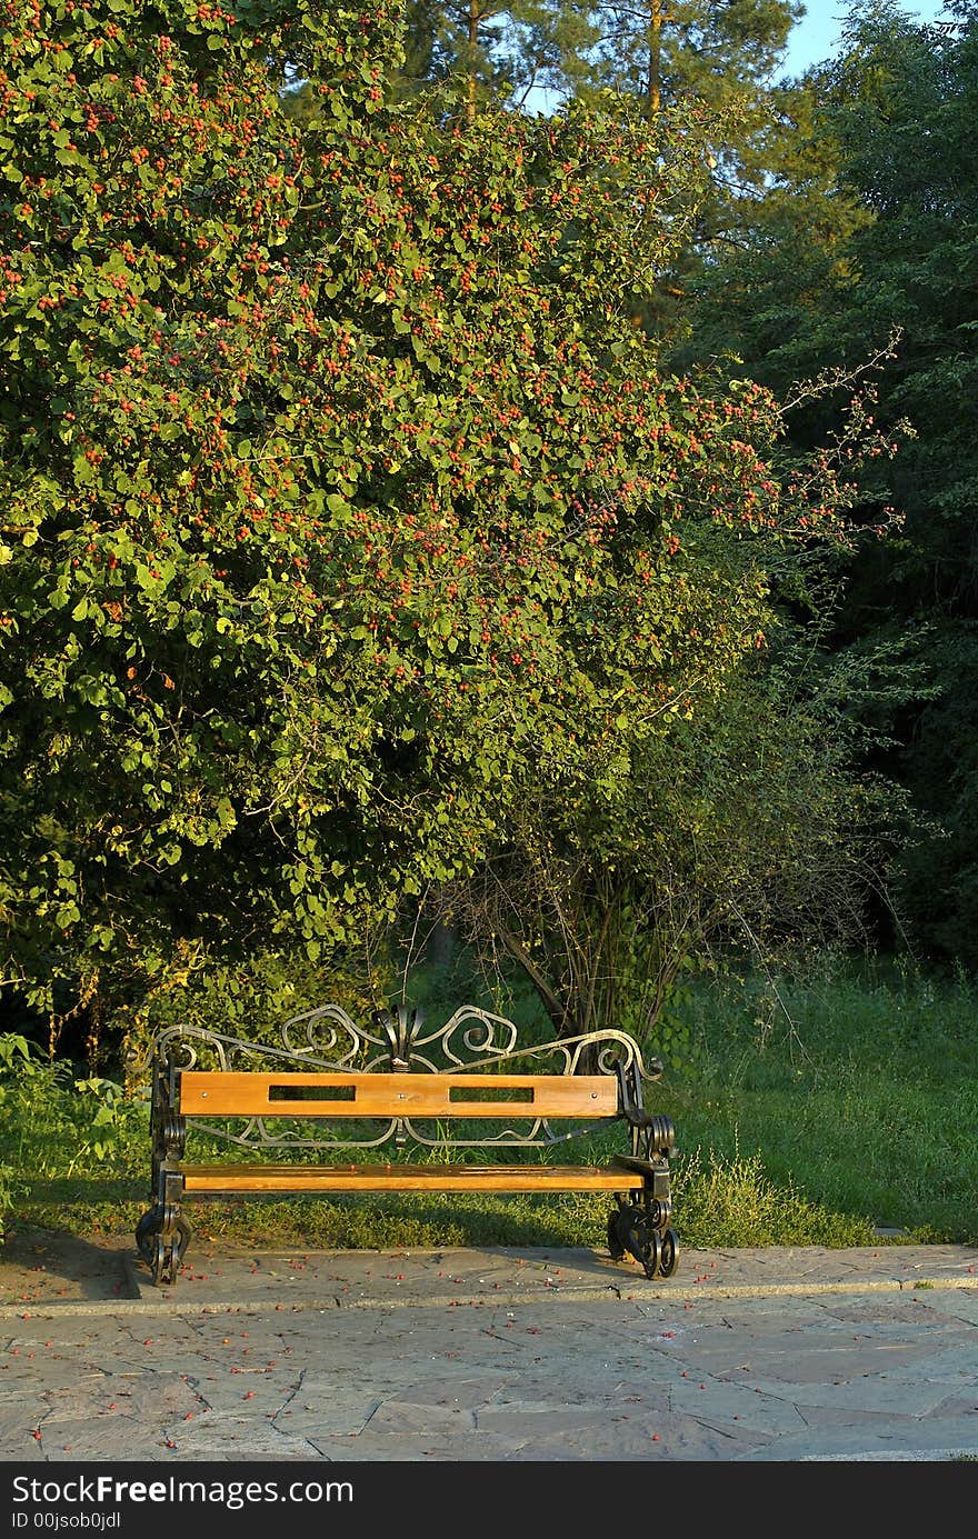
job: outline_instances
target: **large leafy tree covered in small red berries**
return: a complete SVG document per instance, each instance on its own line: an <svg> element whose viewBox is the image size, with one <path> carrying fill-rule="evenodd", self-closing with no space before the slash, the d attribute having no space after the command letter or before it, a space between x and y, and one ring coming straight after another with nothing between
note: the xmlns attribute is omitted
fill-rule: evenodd
<svg viewBox="0 0 978 1539"><path fill-rule="evenodd" d="M605 794L846 499L622 323L695 114L388 103L387 5L5 28L3 977L111 1010L354 943L538 780Z"/></svg>

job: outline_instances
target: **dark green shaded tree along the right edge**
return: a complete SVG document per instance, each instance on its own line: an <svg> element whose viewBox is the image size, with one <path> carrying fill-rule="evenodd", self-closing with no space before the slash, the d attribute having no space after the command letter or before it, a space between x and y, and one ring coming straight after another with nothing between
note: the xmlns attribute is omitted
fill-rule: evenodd
<svg viewBox="0 0 978 1539"><path fill-rule="evenodd" d="M853 11L838 60L810 80L812 177L785 182L776 223L758 222L704 275L676 363L727 346L782 394L899 337L875 414L884 432L909 420L913 437L861 474L859 517L895 505L903 536L855 563L833 645L916 637L923 683L890 706L895 742L876 759L913 791L919 820L895 896L918 946L973 966L978 9L949 9L941 28L890 3ZM824 405L807 411L798 442L827 420Z"/></svg>

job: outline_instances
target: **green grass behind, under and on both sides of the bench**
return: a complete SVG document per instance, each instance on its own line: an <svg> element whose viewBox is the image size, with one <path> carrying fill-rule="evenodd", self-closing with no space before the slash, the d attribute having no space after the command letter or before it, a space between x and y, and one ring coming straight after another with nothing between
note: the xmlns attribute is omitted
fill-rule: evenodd
<svg viewBox="0 0 978 1539"><path fill-rule="evenodd" d="M525 1016L527 1002L510 1013ZM978 999L967 980L873 962L804 979L730 973L690 990L684 1022L682 1060L647 1093L647 1108L676 1125L682 1245L872 1245L881 1227L899 1231L895 1244L978 1244ZM148 1197L145 1105L8 1050L0 1123L8 1219L132 1233ZM590 1154L621 1147L611 1130ZM246 1199L188 1213L214 1239L340 1250L604 1247L607 1210L601 1196L487 1193Z"/></svg>

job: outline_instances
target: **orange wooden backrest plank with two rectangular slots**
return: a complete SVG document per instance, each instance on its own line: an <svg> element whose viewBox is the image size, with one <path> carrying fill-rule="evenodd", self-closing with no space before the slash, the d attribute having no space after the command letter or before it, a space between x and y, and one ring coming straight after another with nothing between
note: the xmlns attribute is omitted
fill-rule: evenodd
<svg viewBox="0 0 978 1539"><path fill-rule="evenodd" d="M611 1117L610 1074L180 1074L188 1117Z"/></svg>

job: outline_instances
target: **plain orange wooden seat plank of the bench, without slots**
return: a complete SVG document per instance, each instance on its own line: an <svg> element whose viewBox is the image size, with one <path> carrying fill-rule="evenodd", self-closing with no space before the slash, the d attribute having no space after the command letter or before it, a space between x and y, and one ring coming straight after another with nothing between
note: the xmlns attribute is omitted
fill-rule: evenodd
<svg viewBox="0 0 978 1539"><path fill-rule="evenodd" d="M599 1165L182 1165L186 1191L627 1191Z"/></svg>

